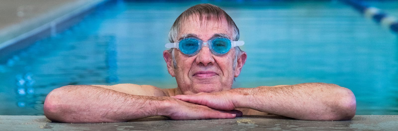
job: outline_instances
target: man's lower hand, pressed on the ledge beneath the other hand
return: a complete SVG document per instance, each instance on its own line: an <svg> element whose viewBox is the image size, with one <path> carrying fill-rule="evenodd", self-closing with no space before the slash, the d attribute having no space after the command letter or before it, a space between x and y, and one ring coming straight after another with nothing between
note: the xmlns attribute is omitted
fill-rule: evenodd
<svg viewBox="0 0 398 131"><path fill-rule="evenodd" d="M170 98L169 102L166 102L166 110L164 114L160 114L172 120L232 119L242 116L239 110L216 110L204 105L173 99Z"/></svg>

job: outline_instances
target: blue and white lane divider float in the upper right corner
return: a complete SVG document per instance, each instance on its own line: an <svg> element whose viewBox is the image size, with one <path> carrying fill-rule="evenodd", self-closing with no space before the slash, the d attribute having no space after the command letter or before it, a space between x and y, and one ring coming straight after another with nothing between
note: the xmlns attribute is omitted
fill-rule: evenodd
<svg viewBox="0 0 398 131"><path fill-rule="evenodd" d="M361 0L342 0L343 2L353 6L359 12L361 12L365 17L375 20L377 23L383 27L390 28L394 33L398 34L398 21L395 17L388 16L378 8L371 7L367 3Z"/></svg>

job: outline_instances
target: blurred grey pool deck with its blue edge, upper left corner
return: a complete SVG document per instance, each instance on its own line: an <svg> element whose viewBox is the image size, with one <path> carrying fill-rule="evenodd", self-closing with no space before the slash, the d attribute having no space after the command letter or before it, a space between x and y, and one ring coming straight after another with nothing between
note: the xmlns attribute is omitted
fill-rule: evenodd
<svg viewBox="0 0 398 131"><path fill-rule="evenodd" d="M34 41L62 32L106 1L108 0L2 0L0 60L7 59Z"/></svg>

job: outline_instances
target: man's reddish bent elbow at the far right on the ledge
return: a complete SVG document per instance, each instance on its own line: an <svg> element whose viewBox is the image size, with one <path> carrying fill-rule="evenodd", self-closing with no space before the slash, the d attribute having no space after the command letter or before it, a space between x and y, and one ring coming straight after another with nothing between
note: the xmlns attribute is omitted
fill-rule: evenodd
<svg viewBox="0 0 398 131"><path fill-rule="evenodd" d="M354 93L350 89L340 87L335 96L337 98L332 107L331 120L351 120L357 110Z"/></svg>

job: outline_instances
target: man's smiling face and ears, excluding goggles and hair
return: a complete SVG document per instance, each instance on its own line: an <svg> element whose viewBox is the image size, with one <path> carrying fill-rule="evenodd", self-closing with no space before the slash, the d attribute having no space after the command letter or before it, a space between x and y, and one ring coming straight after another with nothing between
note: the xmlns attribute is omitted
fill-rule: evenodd
<svg viewBox="0 0 398 131"><path fill-rule="evenodd" d="M179 40L186 34L191 34L203 41L210 40L217 34L226 34L229 38L232 37L226 21L203 24L199 18L183 21L178 34ZM209 47L202 47L199 53L193 56L184 55L175 49L174 55L178 66L176 70L169 68L171 61L166 60L166 62L170 74L176 77L180 91L178 93L182 94L210 93L231 89L234 76L237 77L242 68L239 63L238 70L234 70L232 67L235 57L234 49L230 49L224 55L214 55ZM164 57L166 59L166 56ZM244 61L246 61L246 54L244 54Z"/></svg>

